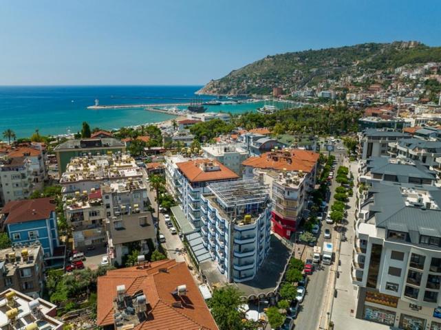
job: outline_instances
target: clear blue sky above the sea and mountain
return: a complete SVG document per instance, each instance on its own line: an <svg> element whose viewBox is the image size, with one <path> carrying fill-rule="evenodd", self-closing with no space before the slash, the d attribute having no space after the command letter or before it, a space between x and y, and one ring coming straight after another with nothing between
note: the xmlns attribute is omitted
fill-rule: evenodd
<svg viewBox="0 0 441 330"><path fill-rule="evenodd" d="M204 85L270 54L440 36L439 0L1 0L0 85Z"/></svg>

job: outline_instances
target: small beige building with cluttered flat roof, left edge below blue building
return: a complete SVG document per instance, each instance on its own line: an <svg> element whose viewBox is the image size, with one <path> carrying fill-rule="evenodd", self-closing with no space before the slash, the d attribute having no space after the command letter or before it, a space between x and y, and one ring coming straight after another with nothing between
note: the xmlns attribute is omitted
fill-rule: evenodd
<svg viewBox="0 0 441 330"><path fill-rule="evenodd" d="M39 243L0 250L1 292L11 288L34 298L41 296L43 270L43 248Z"/></svg>

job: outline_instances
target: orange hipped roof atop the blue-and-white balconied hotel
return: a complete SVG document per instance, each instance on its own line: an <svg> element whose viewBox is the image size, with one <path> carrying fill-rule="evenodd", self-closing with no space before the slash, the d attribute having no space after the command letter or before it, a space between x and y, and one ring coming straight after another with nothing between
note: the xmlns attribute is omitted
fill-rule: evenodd
<svg viewBox="0 0 441 330"><path fill-rule="evenodd" d="M219 170L203 170L204 164L206 166L219 166ZM182 173L189 179L190 182L204 182L217 181L227 179L238 179L236 173L230 170L223 164L211 159L195 159L189 162L176 163Z"/></svg>

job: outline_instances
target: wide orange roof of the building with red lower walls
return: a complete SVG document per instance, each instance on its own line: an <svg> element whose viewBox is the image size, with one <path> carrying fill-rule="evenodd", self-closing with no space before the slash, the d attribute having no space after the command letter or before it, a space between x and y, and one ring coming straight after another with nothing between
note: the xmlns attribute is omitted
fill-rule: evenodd
<svg viewBox="0 0 441 330"><path fill-rule="evenodd" d="M273 170L303 170L310 172L319 160L319 154L303 149L290 149L263 153L257 157L250 157L242 164L255 168L268 168Z"/></svg>

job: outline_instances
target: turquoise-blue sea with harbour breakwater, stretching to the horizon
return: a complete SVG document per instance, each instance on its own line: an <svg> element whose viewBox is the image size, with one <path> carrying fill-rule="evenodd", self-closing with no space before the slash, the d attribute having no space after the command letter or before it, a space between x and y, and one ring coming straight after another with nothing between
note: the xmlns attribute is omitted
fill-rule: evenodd
<svg viewBox="0 0 441 330"><path fill-rule="evenodd" d="M195 96L202 86L11 86L0 87L0 140L12 129L17 138L30 137L36 129L41 135L64 135L80 131L83 122L100 129L119 129L162 122L174 115L144 108L87 109L99 100L107 104L158 104L191 102L176 99L212 99ZM148 99L146 99L148 98ZM245 113L263 102L207 106L207 112ZM185 107L180 107L180 109Z"/></svg>

